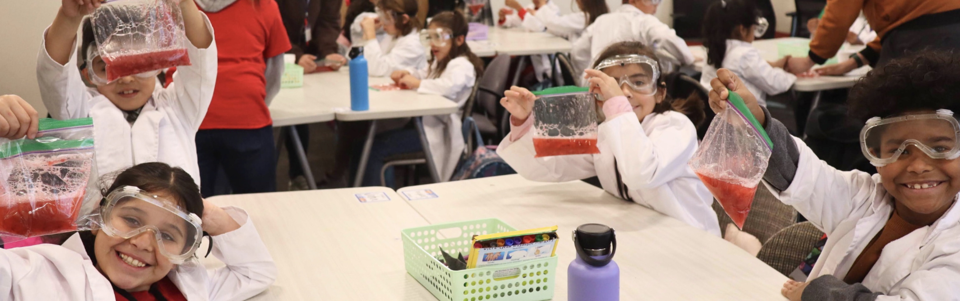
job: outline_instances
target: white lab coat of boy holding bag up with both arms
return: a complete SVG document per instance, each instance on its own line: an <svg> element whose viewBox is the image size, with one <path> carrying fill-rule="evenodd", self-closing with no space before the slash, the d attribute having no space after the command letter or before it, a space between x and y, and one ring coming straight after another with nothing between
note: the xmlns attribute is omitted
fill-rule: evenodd
<svg viewBox="0 0 960 301"><path fill-rule="evenodd" d="M213 35L213 27L205 14L204 22L206 30ZM167 88L156 84L153 98L144 105L132 126L106 96L84 85L75 54L71 53L66 65L60 65L50 58L46 41L43 43L36 58L40 98L53 118L93 118L98 174L140 163L163 162L183 169L200 184L194 138L204 121L217 81L216 41L210 42L206 49L197 49L189 41L184 43L191 65L178 67L174 83ZM72 49L76 50L76 45Z"/></svg>

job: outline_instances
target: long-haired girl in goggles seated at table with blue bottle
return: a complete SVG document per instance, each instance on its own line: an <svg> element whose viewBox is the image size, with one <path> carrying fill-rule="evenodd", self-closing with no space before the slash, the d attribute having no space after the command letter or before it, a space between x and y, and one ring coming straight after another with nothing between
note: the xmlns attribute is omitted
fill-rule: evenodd
<svg viewBox="0 0 960 301"><path fill-rule="evenodd" d="M462 12L438 13L424 33L424 38L430 44L430 67L397 70L390 77L397 85L416 89L423 94L442 95L458 105L464 105L474 81L483 73L483 61L470 52L467 45L467 32L467 19ZM423 117L423 131L437 174L442 179L450 178L464 151L460 114ZM408 125L378 134L364 172L364 186L380 185L380 173L387 156L422 150L420 135L415 127ZM385 176L386 186L393 187L393 179L393 169L390 169Z"/></svg>

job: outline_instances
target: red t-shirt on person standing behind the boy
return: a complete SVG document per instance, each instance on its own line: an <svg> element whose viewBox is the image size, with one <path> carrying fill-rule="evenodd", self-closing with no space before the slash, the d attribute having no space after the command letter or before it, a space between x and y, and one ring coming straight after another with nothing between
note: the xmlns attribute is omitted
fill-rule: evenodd
<svg viewBox="0 0 960 301"><path fill-rule="evenodd" d="M237 0L206 12L217 40L217 85L200 129L260 128L273 124L267 97L266 58L290 50L274 0Z"/></svg>

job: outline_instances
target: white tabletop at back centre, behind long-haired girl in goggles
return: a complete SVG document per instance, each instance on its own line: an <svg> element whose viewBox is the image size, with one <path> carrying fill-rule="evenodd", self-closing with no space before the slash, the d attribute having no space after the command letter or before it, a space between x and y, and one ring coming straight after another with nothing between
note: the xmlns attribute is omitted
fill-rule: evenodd
<svg viewBox="0 0 960 301"><path fill-rule="evenodd" d="M470 50L478 57L553 55L568 53L570 41L548 33L531 33L519 28L491 26L486 40L468 41Z"/></svg>

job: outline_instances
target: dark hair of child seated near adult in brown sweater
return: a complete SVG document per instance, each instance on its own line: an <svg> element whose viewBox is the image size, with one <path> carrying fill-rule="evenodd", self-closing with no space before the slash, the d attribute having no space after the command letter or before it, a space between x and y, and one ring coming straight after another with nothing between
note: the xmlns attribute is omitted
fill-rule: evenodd
<svg viewBox="0 0 960 301"><path fill-rule="evenodd" d="M761 16L753 0L723 0L713 2L704 14L704 46L707 63L719 69L727 55L727 39L732 38L737 26L756 25Z"/></svg>

